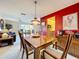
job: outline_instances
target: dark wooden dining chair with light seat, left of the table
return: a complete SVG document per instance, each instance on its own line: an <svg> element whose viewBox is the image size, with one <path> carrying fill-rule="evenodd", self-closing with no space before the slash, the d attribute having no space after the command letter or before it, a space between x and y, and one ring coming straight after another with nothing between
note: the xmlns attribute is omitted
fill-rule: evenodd
<svg viewBox="0 0 79 59"><path fill-rule="evenodd" d="M26 42L25 42L25 39L23 38L23 33L19 33L19 36L20 36L20 41L21 41L21 47L23 48L22 50L22 58L23 59L23 56L24 56L24 52L26 54L26 59L28 59L28 56L31 55L34 50L32 49L32 47L30 47Z"/></svg>

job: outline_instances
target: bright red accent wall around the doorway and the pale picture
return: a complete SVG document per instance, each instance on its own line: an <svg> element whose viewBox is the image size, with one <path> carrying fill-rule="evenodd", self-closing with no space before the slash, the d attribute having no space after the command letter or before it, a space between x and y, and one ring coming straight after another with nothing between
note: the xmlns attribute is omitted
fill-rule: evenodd
<svg viewBox="0 0 79 59"><path fill-rule="evenodd" d="M41 18L41 21L45 21L50 18L55 16L56 17L56 25L55 25L55 31L57 30L62 30L63 26L62 26L62 16L67 15L67 14L71 14L71 13L75 13L78 12L78 29L79 29L79 3L76 3L72 6L69 6L67 8L64 8L60 11L57 11L55 13L51 13L47 16L44 16Z"/></svg>

